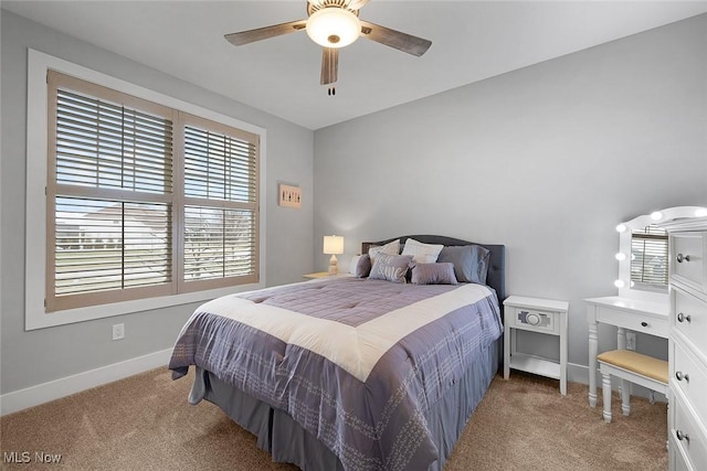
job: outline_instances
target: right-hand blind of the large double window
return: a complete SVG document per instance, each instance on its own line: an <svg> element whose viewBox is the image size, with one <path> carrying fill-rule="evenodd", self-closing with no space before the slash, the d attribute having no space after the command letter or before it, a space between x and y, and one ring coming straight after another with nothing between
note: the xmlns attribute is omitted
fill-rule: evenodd
<svg viewBox="0 0 707 471"><path fill-rule="evenodd" d="M257 276L257 139L184 117L184 275Z"/></svg>

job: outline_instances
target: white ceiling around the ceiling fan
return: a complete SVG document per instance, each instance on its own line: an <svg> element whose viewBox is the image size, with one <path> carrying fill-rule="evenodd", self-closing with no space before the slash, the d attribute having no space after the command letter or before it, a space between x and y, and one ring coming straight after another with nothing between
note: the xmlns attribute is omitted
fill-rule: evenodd
<svg viewBox="0 0 707 471"><path fill-rule="evenodd" d="M336 96L305 32L223 35L306 18L287 1L2 1L2 8L309 129L318 129L707 12L707 1L372 0L360 18L422 36L415 57L359 39Z"/></svg>

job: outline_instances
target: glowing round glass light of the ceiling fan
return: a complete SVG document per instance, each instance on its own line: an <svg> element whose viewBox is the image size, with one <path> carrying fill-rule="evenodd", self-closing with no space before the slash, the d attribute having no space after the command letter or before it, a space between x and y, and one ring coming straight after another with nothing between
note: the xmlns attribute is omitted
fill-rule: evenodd
<svg viewBox="0 0 707 471"><path fill-rule="evenodd" d="M356 41L361 22L356 13L344 8L323 8L307 20L307 35L324 47L344 47Z"/></svg>

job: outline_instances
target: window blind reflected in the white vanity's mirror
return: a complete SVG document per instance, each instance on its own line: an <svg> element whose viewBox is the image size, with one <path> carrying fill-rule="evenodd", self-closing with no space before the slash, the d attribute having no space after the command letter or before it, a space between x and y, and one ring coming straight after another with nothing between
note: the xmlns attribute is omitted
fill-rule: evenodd
<svg viewBox="0 0 707 471"><path fill-rule="evenodd" d="M631 234L631 281L667 286L668 236L648 225Z"/></svg>

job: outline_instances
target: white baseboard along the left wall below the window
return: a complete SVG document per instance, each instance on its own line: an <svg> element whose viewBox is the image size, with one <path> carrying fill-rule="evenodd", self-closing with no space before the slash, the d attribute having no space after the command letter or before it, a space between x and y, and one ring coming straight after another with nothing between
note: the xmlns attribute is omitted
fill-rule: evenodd
<svg viewBox="0 0 707 471"><path fill-rule="evenodd" d="M81 393L82 390L123 379L149 370L166 366L169 363L171 352L171 349L162 350L31 386L25 389L3 394L0 396L0 416Z"/></svg>

